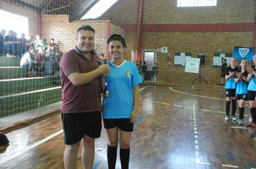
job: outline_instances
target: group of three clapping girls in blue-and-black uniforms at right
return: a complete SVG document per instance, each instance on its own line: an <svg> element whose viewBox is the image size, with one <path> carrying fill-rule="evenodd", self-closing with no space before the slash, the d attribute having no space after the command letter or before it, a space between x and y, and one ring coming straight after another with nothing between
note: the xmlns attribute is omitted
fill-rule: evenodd
<svg viewBox="0 0 256 169"><path fill-rule="evenodd" d="M256 64L256 54L253 57ZM252 122L247 124L248 127L256 127L256 69L255 66L247 68L247 60L242 59L240 69L237 67L237 58L232 57L229 66L225 69L225 78L227 83L226 89L226 117L229 120L229 109L232 102L232 120L237 121L239 125L244 122L244 104L250 101L250 112L252 114ZM232 100L232 101L231 101ZM237 101L239 103L239 119L235 116Z"/></svg>

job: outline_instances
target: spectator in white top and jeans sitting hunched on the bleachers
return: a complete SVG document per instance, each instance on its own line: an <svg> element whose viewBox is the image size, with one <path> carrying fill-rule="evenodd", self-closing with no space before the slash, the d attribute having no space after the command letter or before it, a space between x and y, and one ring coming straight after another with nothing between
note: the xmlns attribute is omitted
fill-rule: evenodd
<svg viewBox="0 0 256 169"><path fill-rule="evenodd" d="M26 52L20 60L20 66L29 67L27 75L29 75L29 77L33 77L32 70L35 68L35 64L37 64L37 61L35 60L35 48L30 47L29 51Z"/></svg>

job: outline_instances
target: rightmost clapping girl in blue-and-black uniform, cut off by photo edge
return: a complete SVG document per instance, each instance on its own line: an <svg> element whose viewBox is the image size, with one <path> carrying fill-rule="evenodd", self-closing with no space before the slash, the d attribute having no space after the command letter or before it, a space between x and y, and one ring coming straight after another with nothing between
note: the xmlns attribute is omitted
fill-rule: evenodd
<svg viewBox="0 0 256 169"><path fill-rule="evenodd" d="M253 56L253 62L256 64L256 54ZM248 100L250 102L250 111L252 114L252 122L247 124L249 127L256 127L256 68L253 67L247 68L248 74L247 79L250 80L248 84Z"/></svg>

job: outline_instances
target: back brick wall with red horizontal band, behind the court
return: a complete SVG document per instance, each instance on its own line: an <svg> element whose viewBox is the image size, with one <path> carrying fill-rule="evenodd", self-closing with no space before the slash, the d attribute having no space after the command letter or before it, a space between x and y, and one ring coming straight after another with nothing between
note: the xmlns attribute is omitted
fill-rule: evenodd
<svg viewBox="0 0 256 169"><path fill-rule="evenodd" d="M159 80L193 82L198 74L174 66L175 52L191 52L192 57L206 55L206 64L200 66L201 76L210 84L219 83L221 71L220 67L213 67L214 53L219 53L218 49L222 49L221 53L232 53L234 46L253 46L256 6L253 0L219 0L216 7L196 8L177 8L175 1L168 0L144 2L142 49L168 47L171 54L168 57L157 52Z"/></svg>

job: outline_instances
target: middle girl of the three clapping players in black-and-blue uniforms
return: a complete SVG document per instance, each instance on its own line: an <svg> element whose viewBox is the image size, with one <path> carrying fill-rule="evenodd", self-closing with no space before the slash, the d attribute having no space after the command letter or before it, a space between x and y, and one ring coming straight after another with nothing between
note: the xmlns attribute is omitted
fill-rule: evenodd
<svg viewBox="0 0 256 169"><path fill-rule="evenodd" d="M240 63L241 69L237 72L237 78L234 81L237 83L236 98L239 104L239 119L237 120L238 125L244 124L244 104L248 100L247 87L249 81L247 80L247 60L242 59Z"/></svg>

